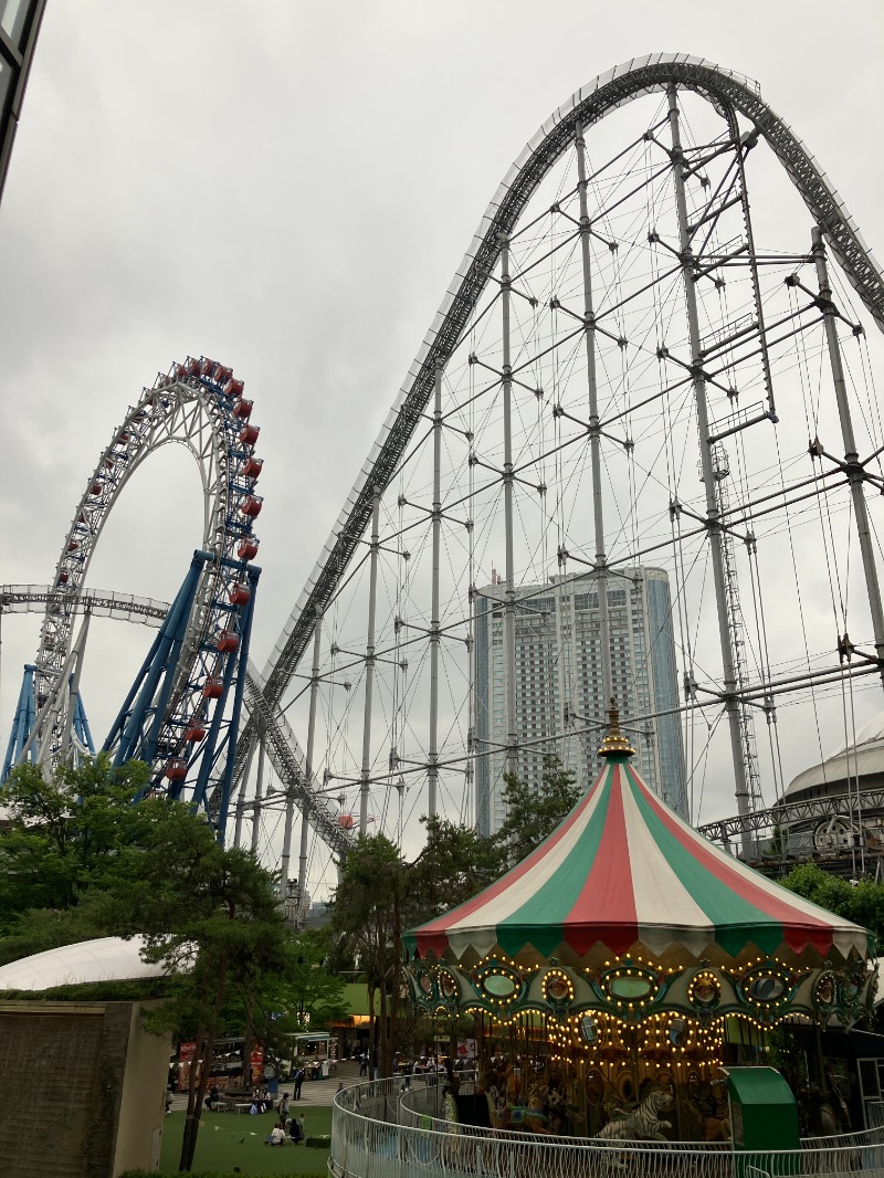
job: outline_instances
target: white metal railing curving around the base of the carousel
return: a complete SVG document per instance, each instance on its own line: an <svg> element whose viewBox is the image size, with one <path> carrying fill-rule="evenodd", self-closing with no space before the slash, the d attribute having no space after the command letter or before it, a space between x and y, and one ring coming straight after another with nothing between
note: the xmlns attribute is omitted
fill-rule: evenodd
<svg viewBox="0 0 884 1178"><path fill-rule="evenodd" d="M442 1119L444 1077L361 1084L335 1098L334 1178L884 1178L884 1127L807 1138L800 1150L552 1137Z"/></svg>

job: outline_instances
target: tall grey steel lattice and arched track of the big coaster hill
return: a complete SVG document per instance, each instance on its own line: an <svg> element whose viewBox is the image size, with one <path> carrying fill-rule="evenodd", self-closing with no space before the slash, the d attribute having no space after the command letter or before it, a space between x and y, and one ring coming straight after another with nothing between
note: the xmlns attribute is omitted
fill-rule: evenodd
<svg viewBox="0 0 884 1178"><path fill-rule="evenodd" d="M753 168L766 168L765 185L785 171L787 192L797 190L822 229L816 245L800 216L787 241L757 245ZM764 223L763 211L754 216ZM832 299L823 238L864 312L846 293ZM684 708L724 717L733 792L750 814L744 708L763 706L772 721L779 677L790 677L776 664L793 664L777 643L771 653L763 610L753 604L747 617L747 602L771 574L763 534L791 528L792 516L806 523L811 495L840 495L838 510L850 499L860 521L869 605L857 629L870 634L871 653L856 657L855 677L876 673L884 654L863 523L865 492L880 479L878 424L864 430L862 448L852 443L849 410L843 429L850 397L836 376L834 396L830 380L787 446L779 428L783 404L801 415L806 358L822 364L838 351L833 332L843 346L866 346L860 313L884 327L880 272L757 84L657 54L578 91L529 140L480 223L268 661L263 737L290 709L295 730L308 733L309 790L351 795L344 826L365 829L374 818L401 834L409 814L471 819L475 759L502 754L515 767L526 747L513 655L525 587L547 593L552 576L589 576L602 590L615 567L659 564L673 585ZM831 439L812 458L809 428ZM725 439L738 476L723 508L713 448ZM865 464L860 449L871 455ZM833 451L846 457L831 459ZM768 527L774 512L779 523ZM799 555L793 563L804 576ZM490 749L477 744L473 716L475 593L493 564L502 570L508 686L503 740ZM734 570L751 591L728 594ZM744 630L745 675L733 649ZM833 647L801 664L794 677L805 694L811 683L840 682ZM583 736L600 720L578 721L573 700L565 702L545 743ZM654 719L652 708L625 722ZM245 760L244 743L240 780ZM302 842L302 876L304 854Z"/></svg>

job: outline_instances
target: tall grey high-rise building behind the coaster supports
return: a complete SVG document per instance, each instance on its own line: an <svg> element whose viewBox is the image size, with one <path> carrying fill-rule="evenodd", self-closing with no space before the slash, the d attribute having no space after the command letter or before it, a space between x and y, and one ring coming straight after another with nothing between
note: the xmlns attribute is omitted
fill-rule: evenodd
<svg viewBox="0 0 884 1178"><path fill-rule="evenodd" d="M687 816L685 754L679 706L669 580L664 569L625 567L607 577L612 688L621 724L631 727L638 767L648 785ZM503 602L501 583L476 597L476 809L483 834L506 818ZM607 722L603 697L599 589L595 578L553 577L522 585L516 596L515 696L519 776L539 780L545 755L555 754L586 788L600 763L596 749ZM596 729L586 729L596 723ZM638 729L638 730L635 730Z"/></svg>

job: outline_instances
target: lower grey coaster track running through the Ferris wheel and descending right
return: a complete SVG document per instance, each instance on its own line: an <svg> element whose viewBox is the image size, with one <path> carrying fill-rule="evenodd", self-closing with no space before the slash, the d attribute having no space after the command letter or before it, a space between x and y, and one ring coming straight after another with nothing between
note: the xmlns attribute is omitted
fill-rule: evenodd
<svg viewBox="0 0 884 1178"><path fill-rule="evenodd" d="M54 585L0 585L0 615L35 614L51 605L59 596ZM152 597L84 589L74 604L79 614L93 617L113 617L125 622L141 622L158 627L169 613L169 603ZM335 810L328 801L312 793L306 779L304 755L285 716L271 708L258 686L258 673L249 662L245 677L245 706L268 733L268 753L281 781L286 783L302 807L310 805L310 822L332 851L343 854L352 845L349 830L338 826Z"/></svg>

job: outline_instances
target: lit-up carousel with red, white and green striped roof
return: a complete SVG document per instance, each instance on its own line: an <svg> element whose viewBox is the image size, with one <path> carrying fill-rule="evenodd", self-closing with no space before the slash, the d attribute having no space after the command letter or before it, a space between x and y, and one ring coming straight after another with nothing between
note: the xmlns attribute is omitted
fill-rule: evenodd
<svg viewBox="0 0 884 1178"><path fill-rule="evenodd" d="M757 874L631 765L467 904L405 934L415 1005L475 1019L477 1121L600 1138L726 1140L723 1067L768 1064L783 1026L870 1008L870 934Z"/></svg>

